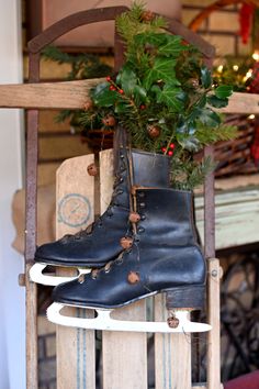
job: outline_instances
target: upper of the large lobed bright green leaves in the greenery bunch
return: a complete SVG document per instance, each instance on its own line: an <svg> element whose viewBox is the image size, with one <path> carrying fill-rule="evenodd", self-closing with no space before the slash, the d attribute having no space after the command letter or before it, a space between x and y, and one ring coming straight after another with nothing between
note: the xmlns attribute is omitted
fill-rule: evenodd
<svg viewBox="0 0 259 389"><path fill-rule="evenodd" d="M144 88L148 90L151 85L157 81L170 82L173 78L176 78L176 59L157 57L153 67L146 71L143 80Z"/></svg>

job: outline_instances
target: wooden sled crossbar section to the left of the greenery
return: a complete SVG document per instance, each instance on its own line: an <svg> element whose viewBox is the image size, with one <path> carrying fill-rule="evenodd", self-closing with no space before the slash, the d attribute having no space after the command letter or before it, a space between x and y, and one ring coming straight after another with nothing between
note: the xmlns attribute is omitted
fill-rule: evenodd
<svg viewBox="0 0 259 389"><path fill-rule="evenodd" d="M83 109L88 91L102 78L67 82L1 85L1 108Z"/></svg>

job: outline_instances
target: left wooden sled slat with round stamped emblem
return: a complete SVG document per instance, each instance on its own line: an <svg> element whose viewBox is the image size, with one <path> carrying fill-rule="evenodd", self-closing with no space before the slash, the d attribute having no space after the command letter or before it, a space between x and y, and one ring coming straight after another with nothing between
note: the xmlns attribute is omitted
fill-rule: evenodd
<svg viewBox="0 0 259 389"><path fill-rule="evenodd" d="M92 154L67 159L57 170L57 237L93 221L94 178L87 173L93 160ZM66 314L92 318L93 311L69 308ZM57 326L57 389L85 388L95 388L94 331Z"/></svg>

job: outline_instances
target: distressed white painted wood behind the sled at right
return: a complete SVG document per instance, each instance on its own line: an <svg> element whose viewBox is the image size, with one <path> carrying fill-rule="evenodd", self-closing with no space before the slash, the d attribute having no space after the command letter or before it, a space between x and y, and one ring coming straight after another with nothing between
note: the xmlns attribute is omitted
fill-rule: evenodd
<svg viewBox="0 0 259 389"><path fill-rule="evenodd" d="M228 191L215 197L216 248L259 241L259 189ZM196 224L203 240L203 198L195 198Z"/></svg>

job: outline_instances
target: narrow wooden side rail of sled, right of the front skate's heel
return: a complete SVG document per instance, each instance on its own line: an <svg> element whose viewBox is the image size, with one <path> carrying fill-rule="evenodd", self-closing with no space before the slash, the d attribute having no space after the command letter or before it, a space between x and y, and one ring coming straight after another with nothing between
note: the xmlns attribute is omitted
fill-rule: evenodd
<svg viewBox="0 0 259 389"><path fill-rule="evenodd" d="M221 388L221 276L219 260L209 259L207 319L212 330L207 334L207 389Z"/></svg>

